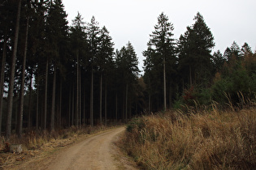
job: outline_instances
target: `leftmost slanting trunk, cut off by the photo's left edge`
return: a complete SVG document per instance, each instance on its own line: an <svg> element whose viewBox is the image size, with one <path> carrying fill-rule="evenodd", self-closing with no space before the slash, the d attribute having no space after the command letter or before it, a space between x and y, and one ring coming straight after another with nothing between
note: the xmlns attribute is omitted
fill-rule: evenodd
<svg viewBox="0 0 256 170"><path fill-rule="evenodd" d="M2 49L2 67L1 67L1 80L0 80L0 134L2 132L2 96L3 96L3 85L4 85L4 71L6 66L7 58L7 27L4 34L4 44Z"/></svg>

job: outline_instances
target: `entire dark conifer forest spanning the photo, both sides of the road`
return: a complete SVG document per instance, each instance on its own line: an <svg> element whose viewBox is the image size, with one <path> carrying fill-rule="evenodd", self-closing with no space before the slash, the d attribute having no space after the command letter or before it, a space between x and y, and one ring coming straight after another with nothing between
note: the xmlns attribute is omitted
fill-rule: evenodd
<svg viewBox="0 0 256 170"><path fill-rule="evenodd" d="M121 49L106 27L78 13L68 25L61 0L0 2L0 132L55 130L127 122L132 116L180 104L239 103L256 92L256 53L234 41L213 53L214 36L202 15L173 38L167 15L158 16L143 52Z"/></svg>

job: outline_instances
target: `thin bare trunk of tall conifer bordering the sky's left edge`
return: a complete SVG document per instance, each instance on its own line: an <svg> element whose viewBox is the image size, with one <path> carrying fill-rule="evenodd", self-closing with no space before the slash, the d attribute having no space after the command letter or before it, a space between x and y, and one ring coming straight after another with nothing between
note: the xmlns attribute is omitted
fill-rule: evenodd
<svg viewBox="0 0 256 170"><path fill-rule="evenodd" d="M50 131L54 130L54 122L55 122L55 95L56 95L56 74L57 70L54 66L54 79L53 79L53 94L51 100L51 114L50 114Z"/></svg>

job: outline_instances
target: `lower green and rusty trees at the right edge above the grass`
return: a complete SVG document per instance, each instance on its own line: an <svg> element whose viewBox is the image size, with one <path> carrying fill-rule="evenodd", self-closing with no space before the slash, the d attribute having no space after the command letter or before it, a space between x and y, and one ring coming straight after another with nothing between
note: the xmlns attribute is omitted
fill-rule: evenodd
<svg viewBox="0 0 256 170"><path fill-rule="evenodd" d="M223 55L223 66L217 70L211 86L213 100L224 104L244 104L254 97L256 57L249 45L241 48L234 41Z"/></svg>

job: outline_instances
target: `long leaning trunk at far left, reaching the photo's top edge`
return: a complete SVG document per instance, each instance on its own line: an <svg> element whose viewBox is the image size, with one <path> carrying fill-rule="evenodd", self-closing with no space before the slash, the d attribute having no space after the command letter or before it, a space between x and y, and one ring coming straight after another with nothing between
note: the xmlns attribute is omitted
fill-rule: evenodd
<svg viewBox="0 0 256 170"><path fill-rule="evenodd" d="M20 30L20 9L21 9L21 0L18 5L16 26L15 26L15 41L13 46L13 53L11 56L11 74L9 81L9 91L8 91L8 104L7 104L7 129L6 129L6 137L7 139L11 136L11 114L12 114L12 106L13 106L13 90L14 90L14 81L15 81L15 62L16 62L16 53L18 47L19 40L19 30Z"/></svg>

